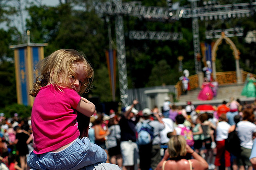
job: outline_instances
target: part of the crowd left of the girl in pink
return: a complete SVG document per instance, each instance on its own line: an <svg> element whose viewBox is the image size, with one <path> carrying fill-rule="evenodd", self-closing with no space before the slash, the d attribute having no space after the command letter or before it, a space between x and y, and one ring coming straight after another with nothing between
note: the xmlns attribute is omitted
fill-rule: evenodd
<svg viewBox="0 0 256 170"><path fill-rule="evenodd" d="M34 150L31 119L0 114L0 169L25 170L26 156Z"/></svg>

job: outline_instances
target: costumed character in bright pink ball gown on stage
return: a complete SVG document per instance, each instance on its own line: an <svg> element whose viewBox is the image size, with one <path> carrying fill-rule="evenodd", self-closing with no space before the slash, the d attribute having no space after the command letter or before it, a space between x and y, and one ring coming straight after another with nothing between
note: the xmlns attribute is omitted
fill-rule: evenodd
<svg viewBox="0 0 256 170"><path fill-rule="evenodd" d="M198 94L198 100L212 100L213 91L212 91L212 83L205 77L204 83L202 83L201 91Z"/></svg>

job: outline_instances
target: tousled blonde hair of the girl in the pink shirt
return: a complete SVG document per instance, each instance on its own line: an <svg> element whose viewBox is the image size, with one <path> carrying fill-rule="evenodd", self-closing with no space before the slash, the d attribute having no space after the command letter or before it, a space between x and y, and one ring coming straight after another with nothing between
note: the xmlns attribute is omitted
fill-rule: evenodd
<svg viewBox="0 0 256 170"><path fill-rule="evenodd" d="M59 86L71 88L73 84L70 85L70 77L75 79L77 77L74 70L75 63L84 63L84 71L87 74L78 94L88 91L92 87L94 71L85 59L84 53L74 49L59 49L37 63L36 68L40 75L36 78L29 94L36 97L40 88L46 86L48 82L56 85L58 89Z"/></svg>

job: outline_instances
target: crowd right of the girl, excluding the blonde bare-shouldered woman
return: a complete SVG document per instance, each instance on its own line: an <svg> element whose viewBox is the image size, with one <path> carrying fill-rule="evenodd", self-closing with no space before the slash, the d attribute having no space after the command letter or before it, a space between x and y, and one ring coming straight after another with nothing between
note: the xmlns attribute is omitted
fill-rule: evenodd
<svg viewBox="0 0 256 170"><path fill-rule="evenodd" d="M197 157L189 154L189 148L192 148L207 162L206 169L252 168L249 157L256 132L256 103L249 105L231 97L230 101L223 101L208 113L197 112L190 101L184 107L170 103L168 113L166 110L159 111L158 107L138 111L135 109L138 103L134 100L121 114L111 110L109 114L97 113L91 117L89 138L106 150L107 162L117 164L124 170L157 169L159 163L163 163L162 158L170 155L170 138L184 136L188 154L178 158L190 160ZM145 124L152 127L152 141L140 144L139 132ZM97 130L98 125L100 130ZM225 140L234 130L241 141L239 157L225 149ZM169 150L168 154L166 150ZM199 162L203 163L201 158Z"/></svg>

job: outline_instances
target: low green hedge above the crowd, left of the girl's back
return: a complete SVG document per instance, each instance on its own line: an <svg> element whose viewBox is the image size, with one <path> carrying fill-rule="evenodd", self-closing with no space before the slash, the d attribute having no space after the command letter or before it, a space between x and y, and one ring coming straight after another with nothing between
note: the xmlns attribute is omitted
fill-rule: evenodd
<svg viewBox="0 0 256 170"><path fill-rule="evenodd" d="M14 113L18 113L19 117L22 118L28 118L31 116L32 107L25 106L25 105L19 105L17 103L14 103L12 105L7 105L3 109L0 109L1 113L4 113L5 117L13 117Z"/></svg>

